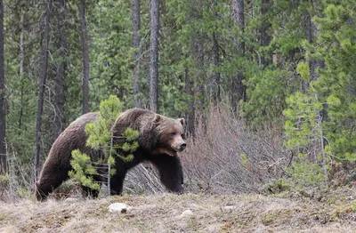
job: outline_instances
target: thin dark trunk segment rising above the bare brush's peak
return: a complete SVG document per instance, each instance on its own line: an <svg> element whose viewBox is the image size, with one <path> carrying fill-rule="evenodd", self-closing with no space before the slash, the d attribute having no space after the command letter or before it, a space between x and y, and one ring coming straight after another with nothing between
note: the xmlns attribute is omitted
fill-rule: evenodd
<svg viewBox="0 0 356 233"><path fill-rule="evenodd" d="M219 58L219 44L217 42L216 33L213 32L213 57L214 57L214 67L218 68L220 66ZM216 105L220 99L220 72L214 71L213 78L211 80L211 95L213 96L214 104Z"/></svg>

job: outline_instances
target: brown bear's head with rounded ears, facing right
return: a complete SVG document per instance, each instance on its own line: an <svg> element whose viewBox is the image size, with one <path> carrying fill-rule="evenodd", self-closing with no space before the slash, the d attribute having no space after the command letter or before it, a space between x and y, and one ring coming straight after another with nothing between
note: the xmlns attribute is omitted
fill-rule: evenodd
<svg viewBox="0 0 356 233"><path fill-rule="evenodd" d="M153 154L167 154L174 157L187 147L184 141L184 118L172 119L156 114L153 125L157 137Z"/></svg>

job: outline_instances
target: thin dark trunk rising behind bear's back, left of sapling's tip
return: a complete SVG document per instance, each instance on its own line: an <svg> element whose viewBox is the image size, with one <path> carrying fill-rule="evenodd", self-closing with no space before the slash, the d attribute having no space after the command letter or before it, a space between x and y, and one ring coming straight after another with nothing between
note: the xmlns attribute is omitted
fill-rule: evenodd
<svg viewBox="0 0 356 233"><path fill-rule="evenodd" d="M89 46L85 20L85 0L79 4L80 22L82 25L83 44L83 114L89 112Z"/></svg>

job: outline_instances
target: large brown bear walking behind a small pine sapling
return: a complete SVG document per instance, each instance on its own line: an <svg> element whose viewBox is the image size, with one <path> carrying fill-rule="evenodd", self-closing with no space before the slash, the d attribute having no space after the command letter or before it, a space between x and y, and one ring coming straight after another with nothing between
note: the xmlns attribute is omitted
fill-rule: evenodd
<svg viewBox="0 0 356 233"><path fill-rule="evenodd" d="M71 123L63 133L54 141L49 156L36 182L36 197L44 200L53 189L69 179L71 170L71 152L79 149L89 155L93 160L102 156L101 150L94 150L86 146L87 135L85 125L95 122L99 114L87 113ZM182 165L177 153L186 148L184 139L184 119L172 119L158 115L150 110L132 108L117 117L112 132L114 142L122 137L126 128L139 131L138 142L140 147L134 151L134 160L124 162L116 157L115 168L117 173L110 180L110 194L121 194L125 174L129 169L142 161L149 161L158 168L161 182L166 189L182 193ZM120 151L122 153L122 151ZM104 172L104 171L101 171ZM102 181L102 175L94 176L95 181ZM84 196L97 197L98 190L83 187Z"/></svg>

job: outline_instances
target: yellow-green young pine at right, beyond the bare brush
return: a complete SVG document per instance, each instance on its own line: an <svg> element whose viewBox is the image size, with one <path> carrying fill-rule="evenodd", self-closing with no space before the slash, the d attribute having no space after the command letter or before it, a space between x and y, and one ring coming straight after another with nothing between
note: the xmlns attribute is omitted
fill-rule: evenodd
<svg viewBox="0 0 356 233"><path fill-rule="evenodd" d="M298 72L303 79L310 79L307 63L300 62ZM324 145L324 141L327 139L323 133L321 112L323 105L330 105L332 102L321 102L318 92L313 87L314 84L315 82L310 82L308 92L295 92L294 95L288 97L288 108L283 111L286 117L285 145L289 149L294 149L298 154L298 159L302 161L302 164L294 162L294 170L290 170L290 172L297 180L307 183L311 183L311 181L318 183L320 180L326 181L328 178L327 151Z"/></svg>

